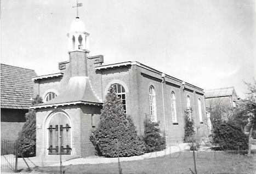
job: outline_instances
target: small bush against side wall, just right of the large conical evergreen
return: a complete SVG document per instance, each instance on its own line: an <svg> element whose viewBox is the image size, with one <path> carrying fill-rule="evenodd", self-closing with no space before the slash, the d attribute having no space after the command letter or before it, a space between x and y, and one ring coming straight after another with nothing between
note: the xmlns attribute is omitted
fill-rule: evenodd
<svg viewBox="0 0 256 174"><path fill-rule="evenodd" d="M155 123L146 119L143 140L146 144L145 152L156 152L166 148L166 137L161 135L159 122Z"/></svg>

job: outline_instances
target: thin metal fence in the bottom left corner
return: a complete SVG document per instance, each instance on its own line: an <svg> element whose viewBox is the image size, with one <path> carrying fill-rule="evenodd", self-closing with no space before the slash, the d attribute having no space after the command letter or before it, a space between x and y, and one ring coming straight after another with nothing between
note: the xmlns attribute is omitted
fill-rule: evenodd
<svg viewBox="0 0 256 174"><path fill-rule="evenodd" d="M17 171L18 143L1 140L1 171Z"/></svg>

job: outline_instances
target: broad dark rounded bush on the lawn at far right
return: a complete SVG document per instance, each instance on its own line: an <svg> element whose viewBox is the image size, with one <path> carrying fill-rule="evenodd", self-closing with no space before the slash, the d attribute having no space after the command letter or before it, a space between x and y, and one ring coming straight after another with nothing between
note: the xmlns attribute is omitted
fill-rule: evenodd
<svg viewBox="0 0 256 174"><path fill-rule="evenodd" d="M241 127L223 122L216 125L212 134L213 145L221 150L246 150L248 137L242 132Z"/></svg>

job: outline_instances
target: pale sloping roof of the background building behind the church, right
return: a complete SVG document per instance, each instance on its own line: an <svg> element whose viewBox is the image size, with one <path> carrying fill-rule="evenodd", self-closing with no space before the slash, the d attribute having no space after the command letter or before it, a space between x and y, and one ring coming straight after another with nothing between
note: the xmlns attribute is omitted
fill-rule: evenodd
<svg viewBox="0 0 256 174"><path fill-rule="evenodd" d="M231 96L234 90L234 87L210 89L204 91L204 96L206 98Z"/></svg>

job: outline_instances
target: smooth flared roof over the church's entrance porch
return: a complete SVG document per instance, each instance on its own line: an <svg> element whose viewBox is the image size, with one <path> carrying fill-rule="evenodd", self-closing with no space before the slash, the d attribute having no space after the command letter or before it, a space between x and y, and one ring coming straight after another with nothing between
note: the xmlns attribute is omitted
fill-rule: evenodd
<svg viewBox="0 0 256 174"><path fill-rule="evenodd" d="M89 77L71 77L66 89L49 102L41 103L31 108L55 107L64 105L102 105L90 84Z"/></svg>

